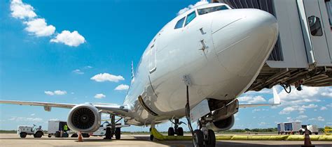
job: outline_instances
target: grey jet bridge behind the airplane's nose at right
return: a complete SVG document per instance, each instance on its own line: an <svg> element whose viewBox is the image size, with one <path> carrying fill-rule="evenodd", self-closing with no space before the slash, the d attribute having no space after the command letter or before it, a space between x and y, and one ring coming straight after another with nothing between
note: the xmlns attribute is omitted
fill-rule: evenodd
<svg viewBox="0 0 332 147"><path fill-rule="evenodd" d="M233 8L258 8L275 15L279 38L247 91L277 84L332 86L332 2L330 0L212 0Z"/></svg>

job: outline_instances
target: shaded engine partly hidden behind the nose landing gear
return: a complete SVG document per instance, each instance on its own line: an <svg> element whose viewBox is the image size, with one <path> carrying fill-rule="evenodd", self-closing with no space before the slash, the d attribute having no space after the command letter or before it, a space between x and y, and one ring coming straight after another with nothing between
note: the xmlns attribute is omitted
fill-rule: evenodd
<svg viewBox="0 0 332 147"><path fill-rule="evenodd" d="M208 123L207 129L211 129L214 131L226 131L230 130L230 128L233 127L234 123L235 123L234 116L231 115L228 118L219 121L214 121L213 123Z"/></svg>

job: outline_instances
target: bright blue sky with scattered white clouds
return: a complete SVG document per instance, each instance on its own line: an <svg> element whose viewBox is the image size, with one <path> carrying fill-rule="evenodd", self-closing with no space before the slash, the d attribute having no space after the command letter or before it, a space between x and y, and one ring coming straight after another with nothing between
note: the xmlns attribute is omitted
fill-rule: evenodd
<svg viewBox="0 0 332 147"><path fill-rule="evenodd" d="M0 99L122 104L131 63L138 63L162 26L195 3L206 2L0 1ZM332 125L332 87L304 87L290 94L280 86L275 88L282 105L240 109L233 128L276 127L285 121ZM239 100L246 104L272 102L272 89L244 93ZM48 120L67 121L68 112L0 105L0 130L32 124L47 130ZM167 122L157 128L166 131L170 125ZM148 131L148 127L123 130Z"/></svg>

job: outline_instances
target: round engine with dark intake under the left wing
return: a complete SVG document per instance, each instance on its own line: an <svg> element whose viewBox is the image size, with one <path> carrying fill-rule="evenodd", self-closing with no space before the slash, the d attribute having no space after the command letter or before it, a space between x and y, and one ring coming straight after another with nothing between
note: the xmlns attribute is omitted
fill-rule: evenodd
<svg viewBox="0 0 332 147"><path fill-rule="evenodd" d="M71 130L95 132L100 127L101 114L90 104L76 105L68 115L67 123Z"/></svg>

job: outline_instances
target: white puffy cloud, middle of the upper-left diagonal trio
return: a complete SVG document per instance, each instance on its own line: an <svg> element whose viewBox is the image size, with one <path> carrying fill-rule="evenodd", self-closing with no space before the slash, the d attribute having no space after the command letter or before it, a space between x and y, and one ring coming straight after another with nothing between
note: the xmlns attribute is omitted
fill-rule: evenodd
<svg viewBox="0 0 332 147"><path fill-rule="evenodd" d="M34 36L51 36L55 31L55 26L47 25L45 19L38 18L35 20L30 20L29 22L24 22L27 24L25 31L28 31Z"/></svg>

